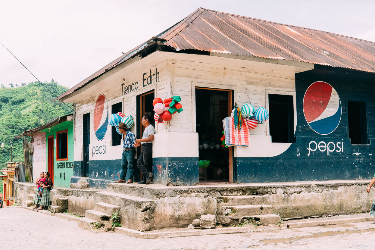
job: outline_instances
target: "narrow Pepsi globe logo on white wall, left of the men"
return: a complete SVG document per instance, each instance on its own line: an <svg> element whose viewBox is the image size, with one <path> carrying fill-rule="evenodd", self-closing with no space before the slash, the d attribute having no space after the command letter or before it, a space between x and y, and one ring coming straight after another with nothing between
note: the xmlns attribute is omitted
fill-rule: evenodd
<svg viewBox="0 0 375 250"><path fill-rule="evenodd" d="M104 94L96 99L93 123L96 139L101 141L108 127L108 104Z"/></svg>

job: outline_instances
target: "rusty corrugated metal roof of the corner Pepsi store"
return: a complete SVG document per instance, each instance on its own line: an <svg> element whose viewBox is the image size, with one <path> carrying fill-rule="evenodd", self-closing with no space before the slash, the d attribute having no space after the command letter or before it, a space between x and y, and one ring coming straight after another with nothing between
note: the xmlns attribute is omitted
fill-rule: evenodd
<svg viewBox="0 0 375 250"><path fill-rule="evenodd" d="M196 49L302 61L375 73L375 42L203 8L197 9L156 37L176 51ZM132 58L147 45L145 42L121 55L59 98L78 90Z"/></svg>

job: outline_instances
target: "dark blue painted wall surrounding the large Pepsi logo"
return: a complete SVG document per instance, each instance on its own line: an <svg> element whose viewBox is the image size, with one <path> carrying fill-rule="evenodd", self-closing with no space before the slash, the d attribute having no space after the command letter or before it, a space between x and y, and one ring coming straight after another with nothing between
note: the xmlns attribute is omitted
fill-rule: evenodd
<svg viewBox="0 0 375 250"><path fill-rule="evenodd" d="M296 74L297 129L296 142L287 151L275 157L237 158L234 161L234 181L238 183L262 183L311 180L371 179L375 172L375 88L374 74L354 70L333 69L318 66L317 69ZM306 122L303 98L308 87L324 81L332 85L341 99L341 121L329 135L320 135ZM348 138L347 102L366 102L368 145L352 145ZM333 142L344 145L343 152L310 151L311 141ZM342 144L341 144L342 143ZM315 148L315 144L311 146ZM331 144L333 148L333 145ZM323 148L322 148L323 149Z"/></svg>

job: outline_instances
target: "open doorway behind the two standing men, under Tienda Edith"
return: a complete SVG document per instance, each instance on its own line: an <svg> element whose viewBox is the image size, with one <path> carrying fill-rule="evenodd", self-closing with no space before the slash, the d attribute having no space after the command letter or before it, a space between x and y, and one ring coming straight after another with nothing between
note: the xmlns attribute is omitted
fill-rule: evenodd
<svg viewBox="0 0 375 250"><path fill-rule="evenodd" d="M144 127L142 126L142 117L144 115L150 115L152 118L150 123L152 126L155 127L154 124L154 106L152 106L152 102L155 98L155 90L148 91L146 93L140 94L137 96L137 123L136 123L136 138L140 139L142 138L142 134L144 131ZM141 154L141 147L137 148L137 159L139 155ZM136 164L134 165L134 180L140 181L142 180L142 173L139 171L139 169L136 167ZM148 171L152 172L152 169L148 169Z"/></svg>

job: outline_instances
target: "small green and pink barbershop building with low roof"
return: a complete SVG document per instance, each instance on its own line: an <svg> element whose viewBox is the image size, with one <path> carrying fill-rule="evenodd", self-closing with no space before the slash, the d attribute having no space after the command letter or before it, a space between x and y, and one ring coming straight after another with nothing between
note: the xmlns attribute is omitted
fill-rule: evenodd
<svg viewBox="0 0 375 250"><path fill-rule="evenodd" d="M56 187L69 187L73 176L73 114L56 117L48 123L16 136L31 136L33 179L40 172L51 173Z"/></svg>

